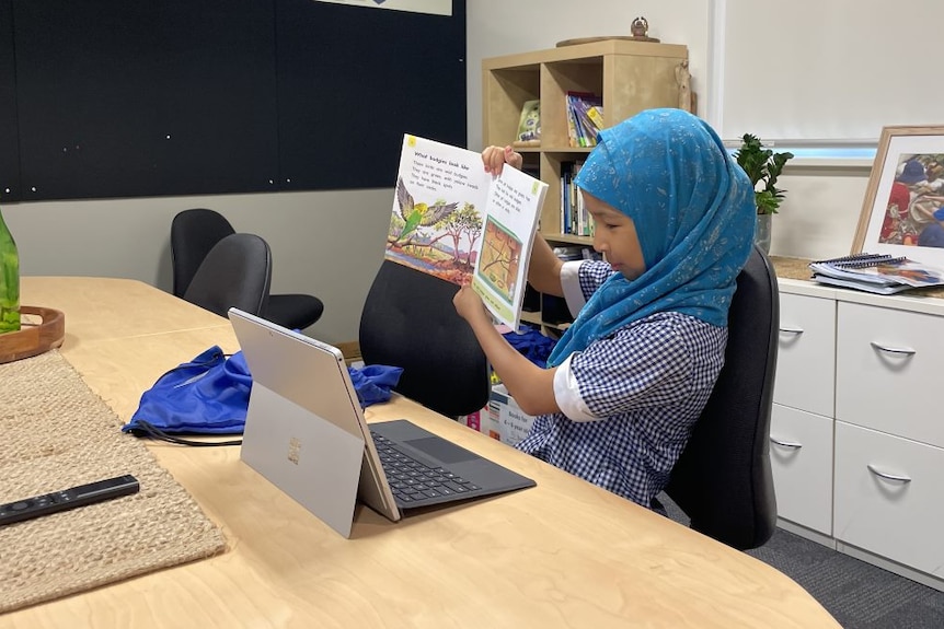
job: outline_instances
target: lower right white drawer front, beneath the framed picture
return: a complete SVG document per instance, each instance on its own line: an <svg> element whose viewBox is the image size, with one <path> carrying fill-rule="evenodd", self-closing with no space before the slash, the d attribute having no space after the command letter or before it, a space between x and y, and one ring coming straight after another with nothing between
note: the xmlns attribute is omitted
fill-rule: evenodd
<svg viewBox="0 0 944 629"><path fill-rule="evenodd" d="M944 578L944 449L836 422L834 536Z"/></svg>

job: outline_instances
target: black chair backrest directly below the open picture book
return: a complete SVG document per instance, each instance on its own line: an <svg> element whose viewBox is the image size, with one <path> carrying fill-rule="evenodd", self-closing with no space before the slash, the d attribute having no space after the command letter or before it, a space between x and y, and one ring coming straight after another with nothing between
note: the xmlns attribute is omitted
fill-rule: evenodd
<svg viewBox="0 0 944 629"><path fill-rule="evenodd" d="M402 366L398 393L459 417L481 410L491 383L485 354L469 324L456 314L458 287L383 260L360 316L366 364Z"/></svg>

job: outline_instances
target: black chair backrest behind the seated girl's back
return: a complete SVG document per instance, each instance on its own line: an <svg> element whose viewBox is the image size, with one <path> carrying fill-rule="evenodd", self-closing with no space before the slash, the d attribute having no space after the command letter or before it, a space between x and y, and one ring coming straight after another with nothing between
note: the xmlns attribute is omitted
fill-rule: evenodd
<svg viewBox="0 0 944 629"><path fill-rule="evenodd" d="M765 544L776 525L769 439L779 327L776 275L755 247L737 278L724 368L666 488L692 528L741 550Z"/></svg>

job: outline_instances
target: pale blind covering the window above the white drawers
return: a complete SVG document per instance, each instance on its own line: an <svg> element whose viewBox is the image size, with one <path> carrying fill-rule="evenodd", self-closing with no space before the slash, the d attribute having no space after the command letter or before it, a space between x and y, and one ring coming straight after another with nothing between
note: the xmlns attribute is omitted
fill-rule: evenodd
<svg viewBox="0 0 944 629"><path fill-rule="evenodd" d="M713 123L802 145L944 125L939 0L714 0Z"/></svg>

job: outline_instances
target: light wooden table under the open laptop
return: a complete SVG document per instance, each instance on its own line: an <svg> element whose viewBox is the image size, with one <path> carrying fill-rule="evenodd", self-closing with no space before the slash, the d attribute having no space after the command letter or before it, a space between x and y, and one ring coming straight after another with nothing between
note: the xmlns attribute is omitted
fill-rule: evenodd
<svg viewBox="0 0 944 629"><path fill-rule="evenodd" d="M235 349L227 322L138 282L24 278L22 293L66 313L62 353L123 418L166 369L214 343ZM148 311L146 333L126 310ZM348 540L238 449L154 443L230 550L14 611L0 626L839 627L773 568L406 399L367 416L408 417L538 487L396 524L359 508Z"/></svg>

